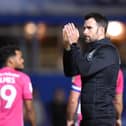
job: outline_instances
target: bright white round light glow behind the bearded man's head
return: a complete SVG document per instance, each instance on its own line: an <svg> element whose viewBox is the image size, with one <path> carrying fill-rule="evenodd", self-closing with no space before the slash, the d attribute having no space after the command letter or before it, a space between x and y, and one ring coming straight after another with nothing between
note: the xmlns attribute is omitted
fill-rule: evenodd
<svg viewBox="0 0 126 126"><path fill-rule="evenodd" d="M123 24L119 21L110 21L108 24L107 34L117 37L123 33Z"/></svg>

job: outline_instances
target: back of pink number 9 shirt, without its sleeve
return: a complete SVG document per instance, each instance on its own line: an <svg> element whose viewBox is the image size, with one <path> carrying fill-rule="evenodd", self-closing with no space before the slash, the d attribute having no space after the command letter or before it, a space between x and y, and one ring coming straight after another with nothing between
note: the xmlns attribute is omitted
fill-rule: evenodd
<svg viewBox="0 0 126 126"><path fill-rule="evenodd" d="M23 79L22 72L0 69L0 126L23 126Z"/></svg>

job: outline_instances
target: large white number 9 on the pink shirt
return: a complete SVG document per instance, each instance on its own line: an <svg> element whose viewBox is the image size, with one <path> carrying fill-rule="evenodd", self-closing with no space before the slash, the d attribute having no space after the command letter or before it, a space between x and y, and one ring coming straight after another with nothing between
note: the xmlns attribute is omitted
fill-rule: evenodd
<svg viewBox="0 0 126 126"><path fill-rule="evenodd" d="M7 95L6 91L10 91L10 94ZM16 94L17 91L15 89L15 87L13 85L4 85L1 89L0 89L0 96L3 100L7 101L5 108L9 109L11 108L15 98L16 98Z"/></svg>

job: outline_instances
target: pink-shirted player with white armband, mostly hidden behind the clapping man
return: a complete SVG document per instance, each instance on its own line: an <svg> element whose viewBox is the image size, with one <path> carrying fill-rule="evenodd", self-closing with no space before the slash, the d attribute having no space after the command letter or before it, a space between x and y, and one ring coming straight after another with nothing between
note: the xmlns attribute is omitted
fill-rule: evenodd
<svg viewBox="0 0 126 126"><path fill-rule="evenodd" d="M79 75L72 77L72 87L67 104L67 126L80 126L82 120L81 108L80 108L80 92L81 92L81 78ZM118 73L118 79L116 84L115 95L115 108L116 108L116 126L122 126L122 110L123 110L123 87L124 76L120 69ZM86 116L86 115L85 115Z"/></svg>

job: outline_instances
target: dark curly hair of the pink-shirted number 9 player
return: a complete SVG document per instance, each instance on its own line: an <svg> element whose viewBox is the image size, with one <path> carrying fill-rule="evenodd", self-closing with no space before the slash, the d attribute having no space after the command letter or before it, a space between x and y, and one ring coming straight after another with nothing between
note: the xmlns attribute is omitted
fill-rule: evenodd
<svg viewBox="0 0 126 126"><path fill-rule="evenodd" d="M20 50L16 45L7 45L0 48L0 64L3 66L10 56L15 55L15 51Z"/></svg>

